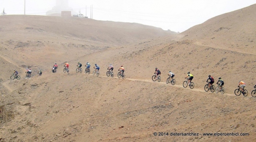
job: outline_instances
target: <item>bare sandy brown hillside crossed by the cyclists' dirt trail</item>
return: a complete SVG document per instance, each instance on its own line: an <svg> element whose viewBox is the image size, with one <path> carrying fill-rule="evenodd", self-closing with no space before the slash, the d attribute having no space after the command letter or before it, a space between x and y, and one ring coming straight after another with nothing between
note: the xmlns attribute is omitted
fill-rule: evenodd
<svg viewBox="0 0 256 142"><path fill-rule="evenodd" d="M256 141L255 6L181 34L136 23L1 16L0 142ZM62 71L65 61L69 73ZM78 61L83 70L87 61L98 64L99 76L92 67L90 74L76 73ZM51 73L55 62L60 67ZM110 63L114 77L106 76ZM117 77L121 65L124 79ZM25 79L27 66L31 80ZM161 82L151 80L156 66ZM14 68L20 80L9 79ZM37 77L39 68L43 75ZM166 84L169 70L175 85ZM188 71L195 76L193 89L182 86ZM215 82L223 78L225 94L204 91L209 74ZM234 95L239 80L247 85L246 97ZM217 132L249 136L203 135Z"/></svg>

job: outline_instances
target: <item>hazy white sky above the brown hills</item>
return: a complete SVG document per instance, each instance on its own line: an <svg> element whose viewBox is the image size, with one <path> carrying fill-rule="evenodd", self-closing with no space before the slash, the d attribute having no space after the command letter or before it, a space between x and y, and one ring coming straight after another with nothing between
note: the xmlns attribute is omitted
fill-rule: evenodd
<svg viewBox="0 0 256 142"><path fill-rule="evenodd" d="M25 0L0 0L0 11L24 14ZM256 0L68 0L69 7L93 19L140 23L182 32L215 16L255 4ZM45 15L56 0L26 0L26 15ZM86 8L87 7L87 8ZM86 10L87 9L87 10ZM0 16L1 18L1 16Z"/></svg>

